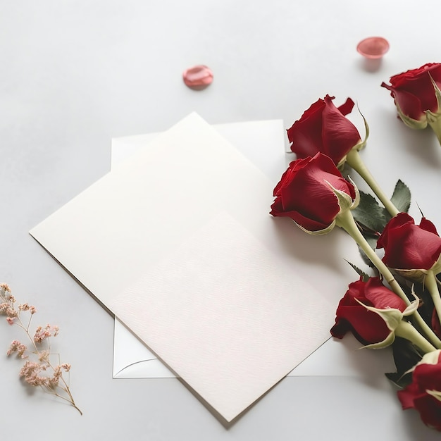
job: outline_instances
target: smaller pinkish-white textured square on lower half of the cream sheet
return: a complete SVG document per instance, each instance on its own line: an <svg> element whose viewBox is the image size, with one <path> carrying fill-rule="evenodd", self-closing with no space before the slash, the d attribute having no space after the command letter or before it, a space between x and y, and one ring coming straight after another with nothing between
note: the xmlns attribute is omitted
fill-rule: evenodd
<svg viewBox="0 0 441 441"><path fill-rule="evenodd" d="M109 306L230 421L323 342L304 323L328 304L291 273L218 213Z"/></svg>

